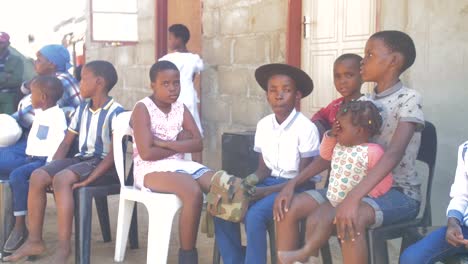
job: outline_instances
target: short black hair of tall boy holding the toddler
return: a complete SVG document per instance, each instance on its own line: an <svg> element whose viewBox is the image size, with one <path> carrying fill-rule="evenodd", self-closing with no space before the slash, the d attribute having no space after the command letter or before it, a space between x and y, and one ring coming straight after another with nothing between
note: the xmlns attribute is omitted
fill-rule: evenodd
<svg viewBox="0 0 468 264"><path fill-rule="evenodd" d="M416 59L416 47L408 34L398 30L384 30L374 33L370 38L381 39L391 51L403 55L405 61L400 73L413 65Z"/></svg>

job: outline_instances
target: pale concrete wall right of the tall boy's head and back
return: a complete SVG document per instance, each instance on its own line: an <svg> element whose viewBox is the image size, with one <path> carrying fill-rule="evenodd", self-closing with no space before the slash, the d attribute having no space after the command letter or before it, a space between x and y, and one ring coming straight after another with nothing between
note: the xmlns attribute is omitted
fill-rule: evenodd
<svg viewBox="0 0 468 264"><path fill-rule="evenodd" d="M446 221L457 147L468 140L468 0L381 2L382 29L403 30L416 44L416 62L404 81L421 92L426 119L437 128L431 204L435 224L442 224Z"/></svg>

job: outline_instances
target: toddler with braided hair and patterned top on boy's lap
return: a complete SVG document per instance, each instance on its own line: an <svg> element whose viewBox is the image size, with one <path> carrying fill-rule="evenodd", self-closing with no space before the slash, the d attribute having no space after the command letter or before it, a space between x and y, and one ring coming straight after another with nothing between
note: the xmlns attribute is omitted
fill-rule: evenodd
<svg viewBox="0 0 468 264"><path fill-rule="evenodd" d="M307 191L320 206L307 217L306 244L296 251L279 252L281 263L296 261L319 263L318 250L328 241L334 230L335 208L346 195L367 176L367 172L382 157L381 146L368 143L382 126L379 110L371 101L350 101L340 106L336 126L325 133L320 156L331 161L328 188ZM393 178L388 174L368 194L377 198L392 188ZM363 201L369 199L364 197ZM312 256L309 259L309 256ZM315 262L314 262L315 261Z"/></svg>

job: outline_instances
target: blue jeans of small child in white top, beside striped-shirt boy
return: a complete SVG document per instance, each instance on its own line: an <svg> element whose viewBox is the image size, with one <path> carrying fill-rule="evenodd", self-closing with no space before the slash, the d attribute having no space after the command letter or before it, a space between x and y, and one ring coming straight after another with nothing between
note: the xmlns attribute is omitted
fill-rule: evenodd
<svg viewBox="0 0 468 264"><path fill-rule="evenodd" d="M13 194L13 214L26 215L28 206L29 178L31 173L45 164L46 158L27 158L24 165L10 173L10 186Z"/></svg>

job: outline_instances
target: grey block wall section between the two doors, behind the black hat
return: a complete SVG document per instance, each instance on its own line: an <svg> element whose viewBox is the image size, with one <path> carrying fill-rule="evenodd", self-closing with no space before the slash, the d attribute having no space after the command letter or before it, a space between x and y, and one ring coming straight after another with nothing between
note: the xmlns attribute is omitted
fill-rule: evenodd
<svg viewBox="0 0 468 264"><path fill-rule="evenodd" d="M287 1L203 1L204 162L221 167L224 132L254 130L271 112L255 69L285 62Z"/></svg>

